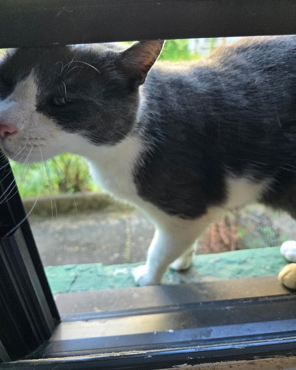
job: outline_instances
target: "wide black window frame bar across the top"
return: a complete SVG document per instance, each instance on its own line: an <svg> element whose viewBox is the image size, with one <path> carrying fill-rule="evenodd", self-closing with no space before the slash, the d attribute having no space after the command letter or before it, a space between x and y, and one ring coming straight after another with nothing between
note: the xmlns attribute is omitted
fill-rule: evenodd
<svg viewBox="0 0 296 370"><path fill-rule="evenodd" d="M0 14L0 48L296 34L293 0L1 0Z"/></svg>

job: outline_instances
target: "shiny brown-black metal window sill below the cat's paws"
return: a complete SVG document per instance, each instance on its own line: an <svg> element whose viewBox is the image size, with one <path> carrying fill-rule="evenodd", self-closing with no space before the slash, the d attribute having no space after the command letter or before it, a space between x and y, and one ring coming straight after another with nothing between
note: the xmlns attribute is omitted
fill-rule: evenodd
<svg viewBox="0 0 296 370"><path fill-rule="evenodd" d="M46 346L4 368L162 369L296 354L296 294L276 277L122 290L132 293L125 308L108 305L119 290L105 303L92 292L109 310L64 315Z"/></svg>

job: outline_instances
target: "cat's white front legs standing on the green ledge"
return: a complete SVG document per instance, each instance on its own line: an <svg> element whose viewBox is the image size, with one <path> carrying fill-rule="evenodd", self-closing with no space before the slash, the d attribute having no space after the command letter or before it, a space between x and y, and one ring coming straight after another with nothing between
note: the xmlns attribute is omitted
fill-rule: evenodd
<svg viewBox="0 0 296 370"><path fill-rule="evenodd" d="M189 267L195 238L195 233L188 235L188 230L168 233L158 229L148 249L146 264L138 266L133 272L135 282L141 286L161 284L162 276L169 264L178 261L179 258L186 264L186 267ZM187 250L188 255L186 255ZM183 256L186 261L182 258ZM181 267L184 269L184 265Z"/></svg>

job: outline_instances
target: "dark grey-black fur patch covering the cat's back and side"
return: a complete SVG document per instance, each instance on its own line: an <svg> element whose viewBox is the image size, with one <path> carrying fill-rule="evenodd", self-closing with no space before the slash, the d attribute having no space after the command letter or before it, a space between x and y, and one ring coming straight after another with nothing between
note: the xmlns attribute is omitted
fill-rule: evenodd
<svg viewBox="0 0 296 370"><path fill-rule="evenodd" d="M296 215L295 36L245 39L206 61L155 65L144 86L152 150L135 172L144 199L196 218L225 201L232 174L268 180L258 200Z"/></svg>

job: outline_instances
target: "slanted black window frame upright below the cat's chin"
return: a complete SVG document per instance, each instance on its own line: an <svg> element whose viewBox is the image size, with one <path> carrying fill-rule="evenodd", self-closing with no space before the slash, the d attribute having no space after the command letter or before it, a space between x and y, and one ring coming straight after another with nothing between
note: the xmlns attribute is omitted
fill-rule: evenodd
<svg viewBox="0 0 296 370"><path fill-rule="evenodd" d="M13 189L0 204L0 360L7 361L49 339L60 315L9 162L1 154L0 194L9 185Z"/></svg>

